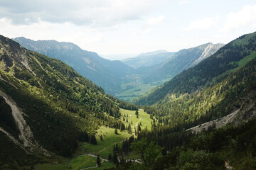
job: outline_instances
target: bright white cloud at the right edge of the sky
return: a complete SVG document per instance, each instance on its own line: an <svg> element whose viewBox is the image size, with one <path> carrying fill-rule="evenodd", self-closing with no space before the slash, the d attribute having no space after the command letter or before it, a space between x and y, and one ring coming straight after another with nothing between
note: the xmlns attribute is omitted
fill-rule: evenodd
<svg viewBox="0 0 256 170"><path fill-rule="evenodd" d="M225 20L223 28L220 32L227 32L230 30L238 30L245 26L255 26L256 24L256 5L243 6L241 11L237 13L230 12Z"/></svg>

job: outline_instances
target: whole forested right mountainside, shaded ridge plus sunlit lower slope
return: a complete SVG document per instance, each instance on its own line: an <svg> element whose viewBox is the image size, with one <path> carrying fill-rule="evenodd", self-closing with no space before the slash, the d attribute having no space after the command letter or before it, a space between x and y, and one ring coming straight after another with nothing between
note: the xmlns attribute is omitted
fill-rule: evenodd
<svg viewBox="0 0 256 170"><path fill-rule="evenodd" d="M255 57L256 33L242 35L134 103L185 129L242 110L255 90Z"/></svg>

